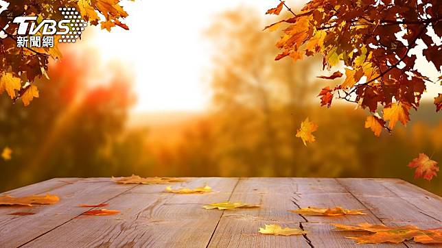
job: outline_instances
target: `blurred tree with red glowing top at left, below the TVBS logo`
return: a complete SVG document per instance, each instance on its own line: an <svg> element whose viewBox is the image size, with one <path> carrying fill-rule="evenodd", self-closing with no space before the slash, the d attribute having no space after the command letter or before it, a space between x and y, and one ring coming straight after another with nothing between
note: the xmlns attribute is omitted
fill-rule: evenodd
<svg viewBox="0 0 442 248"><path fill-rule="evenodd" d="M1 164L3 189L51 177L106 174L111 158L102 149L124 128L133 95L121 68L107 82L90 86L88 73L97 72L89 65L95 63L90 53L72 53L51 64L50 82L36 81L45 97L28 108L0 97L0 144L14 151L14 159Z"/></svg>

